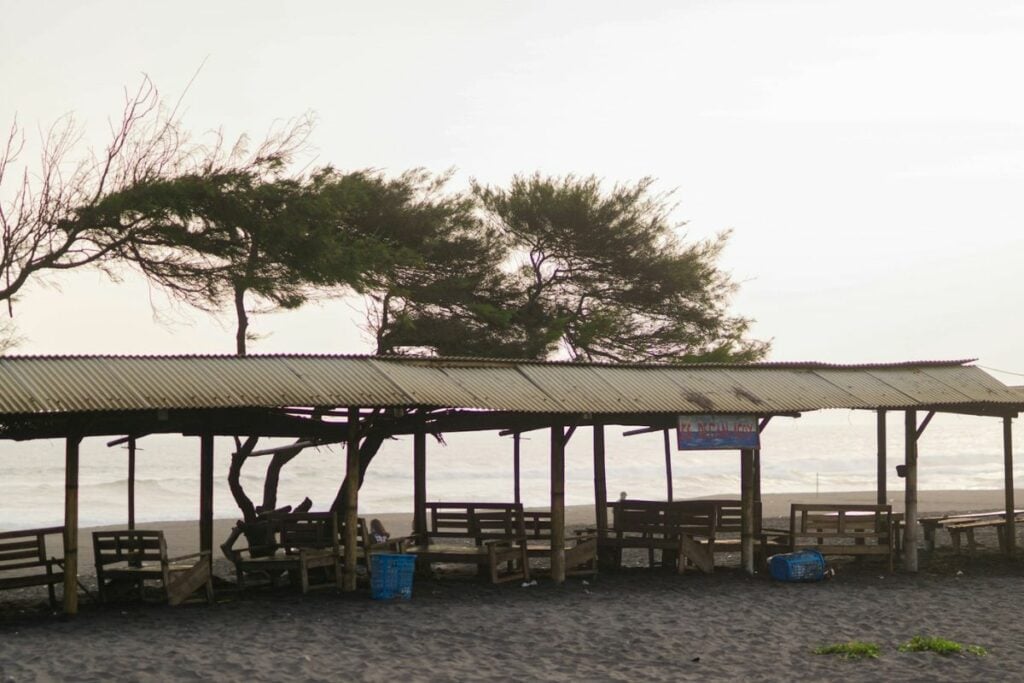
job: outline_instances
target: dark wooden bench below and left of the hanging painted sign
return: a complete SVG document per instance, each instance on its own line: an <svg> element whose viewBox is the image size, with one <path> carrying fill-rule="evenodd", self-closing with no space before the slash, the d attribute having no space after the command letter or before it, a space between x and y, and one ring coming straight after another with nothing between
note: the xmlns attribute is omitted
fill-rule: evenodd
<svg viewBox="0 0 1024 683"><path fill-rule="evenodd" d="M682 573L687 562L701 571L714 571L716 506L710 501L622 500L609 503L612 525L598 538L598 547L612 554L611 563L622 566L623 550L646 549L654 565L654 551L662 551L662 564L676 564Z"/></svg>

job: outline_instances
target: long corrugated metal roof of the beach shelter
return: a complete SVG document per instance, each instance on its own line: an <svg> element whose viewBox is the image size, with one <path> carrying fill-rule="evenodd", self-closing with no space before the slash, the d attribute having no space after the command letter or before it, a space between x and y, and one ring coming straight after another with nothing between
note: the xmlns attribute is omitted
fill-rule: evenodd
<svg viewBox="0 0 1024 683"><path fill-rule="evenodd" d="M797 413L986 405L1024 393L969 361L610 365L351 355L3 356L0 414L432 405L524 413Z"/></svg>

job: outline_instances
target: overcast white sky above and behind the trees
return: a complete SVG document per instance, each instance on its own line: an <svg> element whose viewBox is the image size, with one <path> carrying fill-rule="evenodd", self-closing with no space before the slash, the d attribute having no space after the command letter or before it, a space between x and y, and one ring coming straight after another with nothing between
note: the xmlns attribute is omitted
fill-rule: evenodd
<svg viewBox="0 0 1024 683"><path fill-rule="evenodd" d="M1024 373L1024 5L1016 2L0 1L0 124L122 89L261 135L306 111L317 163L651 175L774 360L979 357ZM230 352L230 319L158 325L134 276L33 287L26 353ZM157 300L159 303L159 299ZM366 352L350 305L261 316L256 352ZM1020 378L997 375L1011 384Z"/></svg>

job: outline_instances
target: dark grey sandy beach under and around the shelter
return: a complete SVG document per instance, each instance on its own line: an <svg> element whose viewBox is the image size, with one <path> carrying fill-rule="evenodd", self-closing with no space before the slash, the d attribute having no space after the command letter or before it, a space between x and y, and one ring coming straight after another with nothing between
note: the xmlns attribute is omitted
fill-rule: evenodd
<svg viewBox="0 0 1024 683"><path fill-rule="evenodd" d="M767 496L765 517L782 517L793 500L873 498ZM923 512L997 509L1001 502L1001 492L921 495ZM410 520L380 518L395 533ZM593 509L571 508L567 518L586 525ZM231 523L218 520L218 543ZM172 552L196 549L195 522L153 526L165 529ZM1004 559L994 535L981 538L986 548L974 558L954 556L948 537L939 538L916 574L840 560L833 579L803 585L749 578L726 558L712 575L631 567L563 586L417 578L408 602L374 601L368 588L303 596L287 588L240 594L226 584L212 606L100 605L83 595L71 620L48 609L43 589L5 591L0 681L1017 680L1024 669L1017 627L1024 563ZM80 573L94 592L87 545ZM231 577L222 559L215 571ZM916 635L988 653L897 651ZM874 642L882 655L813 653L848 640Z"/></svg>

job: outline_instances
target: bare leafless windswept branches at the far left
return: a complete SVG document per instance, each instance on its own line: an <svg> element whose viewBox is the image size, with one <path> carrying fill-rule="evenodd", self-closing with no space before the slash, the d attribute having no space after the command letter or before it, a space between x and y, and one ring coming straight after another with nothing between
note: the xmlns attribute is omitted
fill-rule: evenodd
<svg viewBox="0 0 1024 683"><path fill-rule="evenodd" d="M188 173L210 158L173 110L163 108L148 79L125 93L121 119L99 152L81 148L72 116L40 141L38 162L23 164L26 138L17 122L0 145L0 301L11 300L31 278L47 271L103 264L152 226L144 212L108 222L97 207L139 184Z"/></svg>

